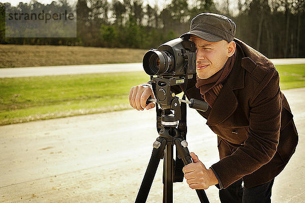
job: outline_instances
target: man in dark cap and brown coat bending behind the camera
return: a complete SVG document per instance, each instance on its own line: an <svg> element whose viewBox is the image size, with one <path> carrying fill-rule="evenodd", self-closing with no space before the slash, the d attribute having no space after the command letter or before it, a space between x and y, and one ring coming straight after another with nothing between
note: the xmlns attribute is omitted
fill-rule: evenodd
<svg viewBox="0 0 305 203"><path fill-rule="evenodd" d="M196 44L197 77L171 91L205 100L198 111L218 135L220 161L206 169L191 153L183 168L192 189L217 185L221 202L270 202L274 178L295 151L297 131L289 104L280 91L279 74L261 53L234 38L235 23L222 15L202 13L181 35ZM143 110L153 92L142 84L130 90L133 108ZM243 182L243 187L242 187Z"/></svg>

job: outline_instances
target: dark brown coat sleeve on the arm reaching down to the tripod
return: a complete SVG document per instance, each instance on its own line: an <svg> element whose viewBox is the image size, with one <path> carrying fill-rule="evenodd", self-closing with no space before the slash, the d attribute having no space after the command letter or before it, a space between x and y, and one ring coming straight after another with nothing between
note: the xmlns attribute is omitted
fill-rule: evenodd
<svg viewBox="0 0 305 203"><path fill-rule="evenodd" d="M277 151L281 125L279 73L270 70L249 101L249 130L244 145L211 167L226 188L268 163Z"/></svg>

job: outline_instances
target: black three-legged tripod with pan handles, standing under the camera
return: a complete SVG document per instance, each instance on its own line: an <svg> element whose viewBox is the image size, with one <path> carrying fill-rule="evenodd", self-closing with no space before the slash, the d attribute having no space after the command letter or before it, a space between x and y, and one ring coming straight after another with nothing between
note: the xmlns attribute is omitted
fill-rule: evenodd
<svg viewBox="0 0 305 203"><path fill-rule="evenodd" d="M149 99L148 101L156 101L154 99ZM202 104L201 101L198 100L193 100L191 99L189 101L185 100L178 100L174 99L173 102L175 103L174 105L171 106L177 106L176 104L181 101L185 103L189 103L190 107L198 107ZM178 105L178 109L180 110L180 105ZM183 161L185 165L192 163L192 157L190 156L189 150L188 150L188 143L183 137L183 135L186 134L186 105L184 106L185 110L182 110L182 113L184 112L184 118L185 118L185 123L179 123L178 128L176 128L178 124L178 119L175 116L175 114L171 114L171 110L164 110L162 108L158 109L158 105L156 104L157 108L157 129L159 132L159 137L153 144L153 152L151 154L148 166L146 168L146 172L142 181L142 184L140 186L137 198L136 198L136 203L142 203L146 202L151 184L153 183L153 180L156 175L156 171L160 162L160 159L164 158L164 165L163 165L163 203L171 203L173 202L173 182L174 182L174 171L176 172L177 170L174 170L175 166L178 165L177 162L179 160L176 159L174 162L173 159L173 146L176 146L176 152L177 152L177 157ZM201 109L204 109L201 105ZM177 109L177 108L175 108ZM158 111L161 112L162 117L158 117ZM181 113L181 112L180 112ZM161 120L161 121L160 121ZM182 118L182 120L184 120ZM159 123L159 124L158 124ZM160 125L161 123L161 125ZM181 124L181 125L180 125ZM181 128L182 126L182 128ZM185 129L180 132L180 129ZM176 163L176 164L174 164ZM177 166L176 166L177 167ZM181 168L180 168L181 169ZM183 180L183 172L182 170L178 170L180 172L180 179L177 182L182 182ZM182 177L181 177L182 176ZM205 202L208 203L207 196L204 192L204 190L196 190L197 195L199 197L200 202Z"/></svg>

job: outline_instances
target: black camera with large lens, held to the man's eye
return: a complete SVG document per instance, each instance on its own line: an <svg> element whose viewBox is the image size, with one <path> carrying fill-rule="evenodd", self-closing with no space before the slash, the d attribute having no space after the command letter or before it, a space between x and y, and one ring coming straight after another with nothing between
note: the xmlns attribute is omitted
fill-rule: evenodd
<svg viewBox="0 0 305 203"><path fill-rule="evenodd" d="M143 57L143 68L148 75L190 79L196 73L195 43L176 38L150 49Z"/></svg>

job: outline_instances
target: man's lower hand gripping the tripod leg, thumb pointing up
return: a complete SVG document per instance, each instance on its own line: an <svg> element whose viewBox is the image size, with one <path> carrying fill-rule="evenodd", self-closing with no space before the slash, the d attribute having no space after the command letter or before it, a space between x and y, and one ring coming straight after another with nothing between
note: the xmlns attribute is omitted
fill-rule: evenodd
<svg viewBox="0 0 305 203"><path fill-rule="evenodd" d="M218 184L218 180L212 169L206 169L197 155L191 152L193 163L183 167L187 183L192 189L207 189L211 185Z"/></svg>

